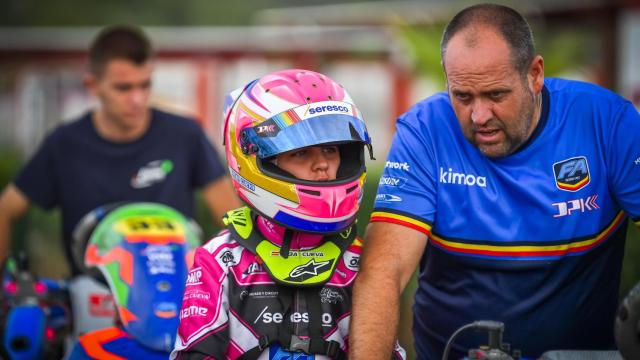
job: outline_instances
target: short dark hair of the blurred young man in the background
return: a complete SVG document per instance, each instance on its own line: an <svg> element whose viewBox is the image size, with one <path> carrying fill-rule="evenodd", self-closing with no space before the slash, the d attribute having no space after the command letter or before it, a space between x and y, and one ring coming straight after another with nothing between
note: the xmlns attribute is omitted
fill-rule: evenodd
<svg viewBox="0 0 640 360"><path fill-rule="evenodd" d="M140 28L129 25L106 27L89 48L89 69L100 76L111 60L124 59L142 65L152 53L151 41Z"/></svg>

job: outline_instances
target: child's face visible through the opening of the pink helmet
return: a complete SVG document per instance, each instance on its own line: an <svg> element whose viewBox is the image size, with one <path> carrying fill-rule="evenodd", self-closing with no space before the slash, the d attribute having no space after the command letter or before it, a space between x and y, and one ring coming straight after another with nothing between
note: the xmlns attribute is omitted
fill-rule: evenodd
<svg viewBox="0 0 640 360"><path fill-rule="evenodd" d="M335 145L310 146L278 155L276 164L298 179L335 180L340 166L340 151Z"/></svg>

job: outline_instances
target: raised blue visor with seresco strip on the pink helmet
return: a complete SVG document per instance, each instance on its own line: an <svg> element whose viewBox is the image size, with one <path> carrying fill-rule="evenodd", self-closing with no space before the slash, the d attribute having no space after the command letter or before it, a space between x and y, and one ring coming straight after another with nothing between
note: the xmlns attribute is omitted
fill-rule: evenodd
<svg viewBox="0 0 640 360"><path fill-rule="evenodd" d="M371 143L365 123L353 105L325 103L343 105L304 105L244 129L241 133L243 151L256 153L259 158L265 159L319 144ZM300 114L300 110L305 109L307 111ZM312 111L308 111L310 109Z"/></svg>

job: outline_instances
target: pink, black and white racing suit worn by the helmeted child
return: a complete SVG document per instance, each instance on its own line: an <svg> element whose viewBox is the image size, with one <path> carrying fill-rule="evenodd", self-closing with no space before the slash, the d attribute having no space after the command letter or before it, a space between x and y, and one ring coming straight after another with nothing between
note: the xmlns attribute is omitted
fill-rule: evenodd
<svg viewBox="0 0 640 360"><path fill-rule="evenodd" d="M260 237L282 246L283 227L260 216L245 220L255 224ZM362 246L355 235L351 240L328 281L288 286L274 281L264 259L280 252L256 255L241 245L230 226L196 251L171 359L346 358L351 284ZM323 235L293 233L289 254L302 255L305 264L291 274L327 271L325 262L314 257L322 256L317 246L323 241ZM393 356L405 358L397 344Z"/></svg>

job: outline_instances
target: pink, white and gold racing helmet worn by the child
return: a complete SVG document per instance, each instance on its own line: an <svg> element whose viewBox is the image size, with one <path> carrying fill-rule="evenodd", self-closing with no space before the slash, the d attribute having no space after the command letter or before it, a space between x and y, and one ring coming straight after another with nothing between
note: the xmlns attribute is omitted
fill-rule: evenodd
<svg viewBox="0 0 640 360"><path fill-rule="evenodd" d="M233 186L252 209L304 232L335 233L355 221L366 177L364 147L371 156L371 139L342 86L313 71L274 72L231 92L224 116ZM320 144L338 146L336 180L297 179L268 161Z"/></svg>

